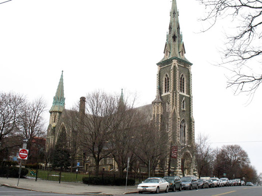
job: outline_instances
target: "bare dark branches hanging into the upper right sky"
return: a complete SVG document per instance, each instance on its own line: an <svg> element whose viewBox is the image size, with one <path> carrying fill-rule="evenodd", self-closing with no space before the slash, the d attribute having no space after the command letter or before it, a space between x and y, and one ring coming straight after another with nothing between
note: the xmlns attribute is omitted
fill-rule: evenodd
<svg viewBox="0 0 262 196"><path fill-rule="evenodd" d="M233 87L235 93L248 92L253 97L262 82L262 74L252 69L260 67L262 54L262 1L261 0L198 0L207 8L203 18L209 22L210 29L219 19L230 17L231 24L236 24L233 35L227 35L226 48L221 65L233 72L229 78L228 87ZM233 26L232 26L233 27ZM251 65L251 63L253 63ZM256 64L256 66L254 66ZM250 69L249 69L250 68Z"/></svg>

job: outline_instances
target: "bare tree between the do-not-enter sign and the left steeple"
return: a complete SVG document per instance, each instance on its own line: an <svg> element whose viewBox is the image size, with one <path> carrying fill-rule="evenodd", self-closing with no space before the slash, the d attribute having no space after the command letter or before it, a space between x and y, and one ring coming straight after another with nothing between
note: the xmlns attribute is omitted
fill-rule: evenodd
<svg viewBox="0 0 262 196"><path fill-rule="evenodd" d="M22 138L28 138L27 149L30 151L35 150L32 149L32 141L34 138L45 135L45 122L43 118L45 108L46 104L43 98L40 97L32 102L26 103L22 109L17 131ZM30 154L28 159L30 160Z"/></svg>

